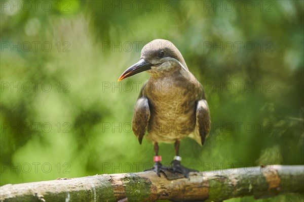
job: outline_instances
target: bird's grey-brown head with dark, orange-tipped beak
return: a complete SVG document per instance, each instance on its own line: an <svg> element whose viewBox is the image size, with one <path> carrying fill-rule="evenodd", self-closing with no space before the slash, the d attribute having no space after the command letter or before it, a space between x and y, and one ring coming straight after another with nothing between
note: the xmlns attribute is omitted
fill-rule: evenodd
<svg viewBox="0 0 304 202"><path fill-rule="evenodd" d="M155 39L143 46L140 60L129 67L118 80L121 81L143 71L160 75L176 68L183 68L188 71L181 53L172 42Z"/></svg>

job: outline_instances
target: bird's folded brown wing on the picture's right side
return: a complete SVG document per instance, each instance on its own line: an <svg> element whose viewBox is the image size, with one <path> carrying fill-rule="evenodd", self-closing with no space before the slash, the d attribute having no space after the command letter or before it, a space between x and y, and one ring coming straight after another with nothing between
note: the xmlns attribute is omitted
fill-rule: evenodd
<svg viewBox="0 0 304 202"><path fill-rule="evenodd" d="M211 128L209 107L206 99L200 99L196 111L196 131L195 139L203 145ZM200 141L199 141L200 140Z"/></svg>

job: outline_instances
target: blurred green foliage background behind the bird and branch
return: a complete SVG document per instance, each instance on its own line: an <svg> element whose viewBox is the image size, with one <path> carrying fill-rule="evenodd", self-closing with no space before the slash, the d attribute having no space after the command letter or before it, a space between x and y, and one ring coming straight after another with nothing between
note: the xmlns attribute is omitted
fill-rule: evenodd
<svg viewBox="0 0 304 202"><path fill-rule="evenodd" d="M117 79L156 38L178 47L211 111L205 145L181 142L185 166L304 164L303 1L11 4L1 1L0 185L150 167L151 142L130 129L148 73ZM160 154L169 163L173 145Z"/></svg>

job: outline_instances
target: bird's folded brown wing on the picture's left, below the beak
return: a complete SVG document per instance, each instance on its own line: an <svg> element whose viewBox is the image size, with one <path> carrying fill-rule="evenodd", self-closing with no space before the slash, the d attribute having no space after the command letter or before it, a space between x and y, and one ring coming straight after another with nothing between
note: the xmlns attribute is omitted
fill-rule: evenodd
<svg viewBox="0 0 304 202"><path fill-rule="evenodd" d="M136 137L138 138L139 143L141 144L142 138L145 134L145 131L148 127L150 119L150 109L148 98L144 95L144 86L141 88L139 93L139 98L136 101L134 114L132 119L132 130Z"/></svg>

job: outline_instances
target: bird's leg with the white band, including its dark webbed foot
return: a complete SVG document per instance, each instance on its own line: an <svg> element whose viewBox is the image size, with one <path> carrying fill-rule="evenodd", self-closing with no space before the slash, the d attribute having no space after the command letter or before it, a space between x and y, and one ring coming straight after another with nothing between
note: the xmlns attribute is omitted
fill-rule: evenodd
<svg viewBox="0 0 304 202"><path fill-rule="evenodd" d="M169 170L173 173L181 173L186 178L189 177L190 172L198 172L197 170L189 169L181 165L181 157L179 156L179 140L175 140L174 148L175 157L174 160L171 162L171 167L169 168Z"/></svg>

